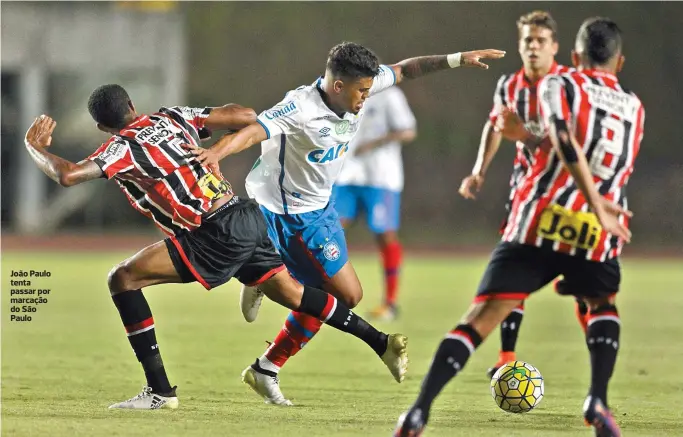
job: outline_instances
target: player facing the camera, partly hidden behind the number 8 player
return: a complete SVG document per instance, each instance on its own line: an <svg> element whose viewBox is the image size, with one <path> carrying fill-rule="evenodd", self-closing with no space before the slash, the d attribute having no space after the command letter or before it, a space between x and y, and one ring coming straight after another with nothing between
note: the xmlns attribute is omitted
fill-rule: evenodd
<svg viewBox="0 0 683 437"><path fill-rule="evenodd" d="M533 11L522 15L517 20L519 35L519 55L522 59L522 68L512 74L504 74L498 80L493 95L493 107L481 135L477 160L472 168L472 173L465 177L460 185L459 193L465 199L476 199L483 184L489 165L498 152L503 139L496 125L502 117L509 117L508 112L515 116L515 122L523 124L530 132L540 133L540 115L538 84L548 74L565 73L569 67L559 65L555 61L557 55L557 23L546 11ZM510 111L503 111L506 108ZM531 163L534 161L536 149L526 147L521 141L516 142L517 153L514 158L512 175L510 177L510 194L506 209L510 212L522 180L527 174ZM501 233L505 229L505 224ZM579 321L584 324L587 312L586 304L576 300L576 314ZM508 317L500 325L501 348L498 361L487 371L489 378L505 363L516 359L515 346L519 336L522 320L524 318L524 302L512 310Z"/></svg>

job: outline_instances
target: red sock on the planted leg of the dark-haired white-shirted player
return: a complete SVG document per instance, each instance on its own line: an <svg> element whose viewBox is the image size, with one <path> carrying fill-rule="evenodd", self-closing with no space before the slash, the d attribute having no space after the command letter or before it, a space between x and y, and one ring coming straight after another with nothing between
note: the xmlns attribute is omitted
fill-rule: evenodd
<svg viewBox="0 0 683 437"><path fill-rule="evenodd" d="M282 329L262 358L277 366L277 369L267 369L277 372L285 365L289 357L295 355L320 330L323 322L304 313L292 311ZM263 367L263 363L261 364Z"/></svg>

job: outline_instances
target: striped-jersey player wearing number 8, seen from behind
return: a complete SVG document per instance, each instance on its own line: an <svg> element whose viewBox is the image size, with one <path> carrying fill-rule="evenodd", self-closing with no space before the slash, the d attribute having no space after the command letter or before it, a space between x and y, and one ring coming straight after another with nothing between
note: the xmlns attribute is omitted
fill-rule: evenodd
<svg viewBox="0 0 683 437"><path fill-rule="evenodd" d="M589 306L586 345L591 385L584 418L601 437L621 436L608 408L607 386L619 350L618 256L629 242L625 187L643 138L644 109L621 86L621 31L608 18L579 29L572 60L577 70L548 75L539 85L540 142L518 124L502 134L538 144L515 197L503 240L494 251L474 305L439 345L413 406L395 435L419 435L439 392L474 350L529 294L557 276L563 293Z"/></svg>

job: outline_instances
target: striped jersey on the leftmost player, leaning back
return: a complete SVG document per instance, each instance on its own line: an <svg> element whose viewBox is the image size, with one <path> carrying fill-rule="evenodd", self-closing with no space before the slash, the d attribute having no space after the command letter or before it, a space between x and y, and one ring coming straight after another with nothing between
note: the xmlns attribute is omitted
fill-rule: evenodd
<svg viewBox="0 0 683 437"><path fill-rule="evenodd" d="M174 106L141 115L88 159L165 234L195 229L214 200L231 192L222 175L214 175L183 149L183 144L199 146L210 112Z"/></svg>

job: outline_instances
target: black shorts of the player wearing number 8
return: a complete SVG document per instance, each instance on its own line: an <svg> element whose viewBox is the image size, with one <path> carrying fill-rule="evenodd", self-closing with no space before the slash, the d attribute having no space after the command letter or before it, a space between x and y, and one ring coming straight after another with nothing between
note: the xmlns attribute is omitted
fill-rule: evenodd
<svg viewBox="0 0 683 437"><path fill-rule="evenodd" d="M557 291L576 297L601 298L619 291L619 260L588 261L520 243L500 242L491 254L475 301L526 299L562 275Z"/></svg>

